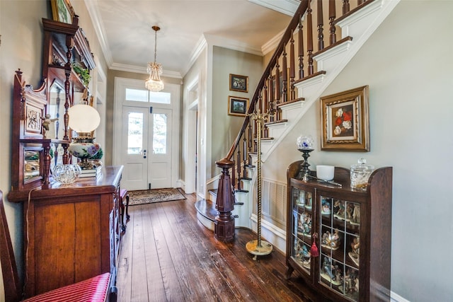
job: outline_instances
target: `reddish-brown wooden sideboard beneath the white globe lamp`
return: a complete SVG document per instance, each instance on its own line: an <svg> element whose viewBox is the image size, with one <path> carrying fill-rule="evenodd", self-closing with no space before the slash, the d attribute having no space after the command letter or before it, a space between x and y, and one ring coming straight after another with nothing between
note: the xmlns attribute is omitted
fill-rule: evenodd
<svg viewBox="0 0 453 302"><path fill-rule="evenodd" d="M107 166L97 178L71 185L50 182L23 202L25 296L73 284L104 272L115 284L120 246L119 194L122 166Z"/></svg>

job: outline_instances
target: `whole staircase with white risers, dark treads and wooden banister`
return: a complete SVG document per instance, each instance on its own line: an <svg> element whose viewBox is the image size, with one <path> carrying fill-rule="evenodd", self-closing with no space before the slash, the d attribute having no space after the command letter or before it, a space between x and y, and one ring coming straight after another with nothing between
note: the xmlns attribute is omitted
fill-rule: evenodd
<svg viewBox="0 0 453 302"><path fill-rule="evenodd" d="M322 2L324 5L329 5L328 19L327 21L317 20L317 30L315 30L311 24L313 16L326 16L326 13L322 13L322 4L320 5ZM335 18L338 7L334 5L332 8L331 2L301 1L258 83L248 113L260 109L261 112L267 111L273 115L270 121L265 123L262 133L262 161L270 156L304 117L311 105L319 100L323 91L398 4L398 0L358 0L357 6L350 9L349 1L335 1L342 10L341 16ZM321 8L321 13L318 8ZM327 30L323 29L323 24L329 25ZM316 32L319 51L313 53L312 35ZM323 32L329 33L328 47L323 47ZM337 40L338 33L340 37ZM294 47L296 44L297 47ZM304 45L306 45L306 53ZM289 62L287 52L289 52ZM296 52L297 57L294 55ZM281 89L280 81L277 81L278 77L275 76L280 74L280 66L283 71L287 71L281 73L280 80L283 86ZM308 75L305 76L305 74ZM298 80L295 79L296 75L299 76ZM281 93L274 93L274 91ZM252 204L253 200L256 200L256 196L253 196L256 186L254 165L256 150L256 125L246 117L241 132L229 153L222 161L217 162L219 168L222 168L219 190L222 190L222 187L230 187L230 183L231 190L226 189L226 192L222 192L222 199L218 200L219 190L213 188L209 190L210 200L202 199L196 203L200 222L212 229L216 237L221 240L231 240L231 236L234 236L234 234L222 234L228 229L224 226L231 228L231 223L233 227L252 228ZM214 183L217 185L217 182ZM256 215L254 219L256 220ZM217 230L216 223L221 226Z"/></svg>

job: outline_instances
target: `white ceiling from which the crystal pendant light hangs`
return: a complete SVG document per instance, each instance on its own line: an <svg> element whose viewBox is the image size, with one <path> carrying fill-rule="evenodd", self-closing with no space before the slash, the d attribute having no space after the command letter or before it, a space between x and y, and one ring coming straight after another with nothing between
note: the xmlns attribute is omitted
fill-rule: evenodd
<svg viewBox="0 0 453 302"><path fill-rule="evenodd" d="M279 42L298 0L85 0L110 69L182 78L206 44L265 54Z"/></svg>

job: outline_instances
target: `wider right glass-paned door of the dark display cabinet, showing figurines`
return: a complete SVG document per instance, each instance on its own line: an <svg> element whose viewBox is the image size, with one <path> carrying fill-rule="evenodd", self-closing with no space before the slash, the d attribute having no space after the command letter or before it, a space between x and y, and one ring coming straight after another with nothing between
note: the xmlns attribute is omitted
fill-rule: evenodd
<svg viewBox="0 0 453 302"><path fill-rule="evenodd" d="M319 196L319 284L359 300L360 204Z"/></svg>

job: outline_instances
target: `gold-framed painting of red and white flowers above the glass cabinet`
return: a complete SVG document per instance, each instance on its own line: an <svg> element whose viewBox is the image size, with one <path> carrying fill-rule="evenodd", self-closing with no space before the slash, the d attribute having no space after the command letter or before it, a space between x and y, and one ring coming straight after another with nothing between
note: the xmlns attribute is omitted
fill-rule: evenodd
<svg viewBox="0 0 453 302"><path fill-rule="evenodd" d="M368 86L320 100L321 150L369 151Z"/></svg>

